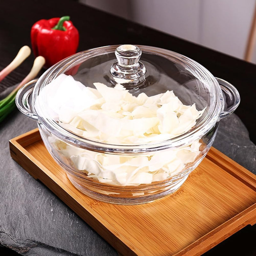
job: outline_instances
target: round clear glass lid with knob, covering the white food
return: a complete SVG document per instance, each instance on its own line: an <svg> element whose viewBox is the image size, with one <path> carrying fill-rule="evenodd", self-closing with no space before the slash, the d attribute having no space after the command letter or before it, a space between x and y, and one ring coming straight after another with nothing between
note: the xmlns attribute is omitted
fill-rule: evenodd
<svg viewBox="0 0 256 256"><path fill-rule="evenodd" d="M196 61L129 44L62 60L39 78L33 95L51 132L95 150L185 145L202 138L223 108L219 84Z"/></svg>

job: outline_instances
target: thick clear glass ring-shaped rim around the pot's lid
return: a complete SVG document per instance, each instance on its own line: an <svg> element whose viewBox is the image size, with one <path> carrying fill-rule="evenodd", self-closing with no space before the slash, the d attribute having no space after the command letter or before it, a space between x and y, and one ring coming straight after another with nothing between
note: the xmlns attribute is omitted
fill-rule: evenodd
<svg viewBox="0 0 256 256"><path fill-rule="evenodd" d="M36 105L36 98L39 95L42 88L51 82L55 77L59 76L60 74L65 73L67 70L75 67L79 63L83 62L91 58L92 56L99 56L102 54L114 52L116 47L119 45L109 45L109 46L102 46L98 48L89 49L83 52L76 53L49 68L44 72L42 76L36 82L35 88L32 94L32 109L36 116L38 117L39 124L43 124L45 128L54 134L56 137L64 140L65 142L75 145L79 148L85 148L92 151L97 152L105 152L105 153L146 153L151 151L162 150L166 148L177 148L184 145L191 143L192 141L201 139L204 134L209 132L212 127L220 120L220 113L223 111L224 104L223 104L223 95L220 88L219 83L215 79L215 77L210 73L209 70L204 68L201 64L192 60L184 55L181 55L176 52L172 52L170 50L165 50L158 47L153 46L144 46L138 45L140 49L145 52L150 51L151 53L155 53L157 55L163 56L167 59L177 59L187 68L189 71L194 72L197 77L202 79L204 83L211 84L209 86L210 93L211 93L211 100L210 106L208 106L208 113L207 115L198 122L192 129L188 132L181 134L175 138L159 141L159 142L151 142L147 144L123 144L123 145L116 145L116 144L108 144L105 142L99 142L94 140L85 139L76 135L68 130L65 130L61 127L57 122L52 119L49 119L47 116L44 115L44 109L38 107L35 108Z"/></svg>

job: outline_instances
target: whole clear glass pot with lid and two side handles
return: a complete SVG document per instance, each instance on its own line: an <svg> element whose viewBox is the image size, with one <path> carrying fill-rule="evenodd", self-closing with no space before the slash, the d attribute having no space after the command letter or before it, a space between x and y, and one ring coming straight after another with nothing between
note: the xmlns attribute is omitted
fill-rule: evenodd
<svg viewBox="0 0 256 256"><path fill-rule="evenodd" d="M110 88L121 86L137 99L141 93L147 98L173 91L182 104L195 104L201 115L177 136L120 143L87 138L49 114L43 91L62 74L71 75L88 87L95 82ZM118 104L115 94L112 96ZM71 183L85 195L116 204L152 202L180 188L212 146L220 119L231 114L239 102L233 85L215 78L196 61L142 45L104 46L74 54L46 70L38 80L24 85L16 97L19 110L37 121L46 148ZM175 118L181 123L180 115ZM95 119L100 122L100 116ZM165 120L168 122L168 118ZM132 123L136 120L129 122L136 131L136 123ZM119 128L112 125L113 138Z"/></svg>

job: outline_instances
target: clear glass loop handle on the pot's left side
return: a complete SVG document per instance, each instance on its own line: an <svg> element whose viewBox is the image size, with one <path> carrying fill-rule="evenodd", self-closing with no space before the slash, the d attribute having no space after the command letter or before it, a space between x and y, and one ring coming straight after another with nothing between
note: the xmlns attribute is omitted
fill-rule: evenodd
<svg viewBox="0 0 256 256"><path fill-rule="evenodd" d="M38 120L36 114L33 112L31 108L31 96L34 90L34 86L38 79L34 79L27 84L23 85L20 90L17 92L15 103L17 108L24 116L28 116L33 120Z"/></svg>

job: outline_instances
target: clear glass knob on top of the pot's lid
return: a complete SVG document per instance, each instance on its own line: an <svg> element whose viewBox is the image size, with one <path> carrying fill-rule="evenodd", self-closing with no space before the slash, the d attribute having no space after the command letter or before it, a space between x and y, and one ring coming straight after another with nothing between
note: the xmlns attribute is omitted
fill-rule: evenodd
<svg viewBox="0 0 256 256"><path fill-rule="evenodd" d="M117 61L111 66L112 84L122 84L127 89L135 89L145 81L145 66L139 61L141 50L132 44L123 44L116 48Z"/></svg>

